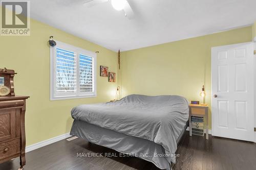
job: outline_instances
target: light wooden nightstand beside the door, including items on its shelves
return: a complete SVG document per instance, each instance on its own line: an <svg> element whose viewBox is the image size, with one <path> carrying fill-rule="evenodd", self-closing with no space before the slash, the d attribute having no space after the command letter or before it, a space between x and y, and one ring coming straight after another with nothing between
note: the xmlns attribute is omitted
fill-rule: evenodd
<svg viewBox="0 0 256 170"><path fill-rule="evenodd" d="M193 122L191 117L197 119ZM202 121L200 121L202 120ZM189 136L192 134L204 136L204 128L206 131L205 138L208 139L208 105L189 105Z"/></svg>

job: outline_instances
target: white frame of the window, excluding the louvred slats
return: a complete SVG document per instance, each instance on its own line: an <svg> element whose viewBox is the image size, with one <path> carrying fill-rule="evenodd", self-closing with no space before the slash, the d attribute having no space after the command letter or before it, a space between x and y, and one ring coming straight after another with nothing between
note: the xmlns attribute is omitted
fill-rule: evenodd
<svg viewBox="0 0 256 170"><path fill-rule="evenodd" d="M67 99L80 99L80 98L94 98L97 96L97 54L88 50L84 50L82 48L63 43L60 41L56 41L57 45L50 46L50 100L67 100ZM62 93L60 95L56 95L56 50L57 48L61 48L63 50L72 51L76 53L76 92L75 93ZM79 55L85 55L93 58L92 65L92 79L93 86L92 92L81 92L80 91L80 81L79 81Z"/></svg>

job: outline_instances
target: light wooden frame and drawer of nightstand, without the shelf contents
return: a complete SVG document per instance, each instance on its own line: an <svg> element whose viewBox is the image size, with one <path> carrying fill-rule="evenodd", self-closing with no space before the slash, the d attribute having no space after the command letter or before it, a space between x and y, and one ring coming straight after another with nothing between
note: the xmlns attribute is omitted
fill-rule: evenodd
<svg viewBox="0 0 256 170"><path fill-rule="evenodd" d="M204 128L206 131L206 139L208 139L208 105L189 105L189 136L192 136L191 116L204 118Z"/></svg>

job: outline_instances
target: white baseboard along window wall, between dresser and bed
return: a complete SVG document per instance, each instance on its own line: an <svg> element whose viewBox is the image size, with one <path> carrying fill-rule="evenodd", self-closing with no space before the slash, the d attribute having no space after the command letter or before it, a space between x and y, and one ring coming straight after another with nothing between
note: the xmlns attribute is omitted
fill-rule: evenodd
<svg viewBox="0 0 256 170"><path fill-rule="evenodd" d="M40 141L40 142L35 143L35 144L31 144L31 145L26 147L25 152L27 153L27 152L36 150L38 148L45 147L48 144L52 144L52 143L60 141L62 139L66 139L66 138L68 138L70 136L71 135L69 133L66 133L66 134L63 134L63 135L59 135L59 136L53 137L51 139L47 139L47 140Z"/></svg>

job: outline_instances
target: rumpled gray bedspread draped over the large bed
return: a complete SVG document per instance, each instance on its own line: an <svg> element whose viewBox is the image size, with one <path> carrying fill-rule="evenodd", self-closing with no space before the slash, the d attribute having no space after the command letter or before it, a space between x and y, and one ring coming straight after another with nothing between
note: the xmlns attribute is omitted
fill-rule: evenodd
<svg viewBox="0 0 256 170"><path fill-rule="evenodd" d="M168 162L175 163L176 140L188 119L188 102L178 95L132 94L120 101L80 105L76 120L160 144Z"/></svg>

